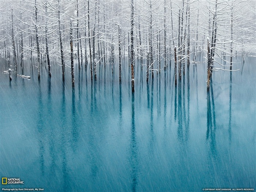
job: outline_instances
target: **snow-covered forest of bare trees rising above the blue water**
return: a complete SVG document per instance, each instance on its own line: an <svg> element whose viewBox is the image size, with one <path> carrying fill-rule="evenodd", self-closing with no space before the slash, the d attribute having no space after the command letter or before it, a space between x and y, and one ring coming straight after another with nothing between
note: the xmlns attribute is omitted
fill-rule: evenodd
<svg viewBox="0 0 256 192"><path fill-rule="evenodd" d="M176 83L203 56L209 87L212 71L237 70L233 57L255 53L254 0L1 0L0 10L6 69L16 75L23 60L35 58L40 79L40 67L51 76L56 61L63 82L71 69L73 86L74 60L79 70L88 66L91 80L97 65L119 67L121 83L127 56L134 91L135 60L147 81L172 66Z"/></svg>

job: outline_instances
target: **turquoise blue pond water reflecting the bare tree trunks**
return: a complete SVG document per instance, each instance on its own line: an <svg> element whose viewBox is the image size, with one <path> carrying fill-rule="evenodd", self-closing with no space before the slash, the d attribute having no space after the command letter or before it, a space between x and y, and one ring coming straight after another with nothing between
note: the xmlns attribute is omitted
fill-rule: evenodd
<svg viewBox="0 0 256 192"><path fill-rule="evenodd" d="M235 59L233 69L212 75L191 65L174 85L173 63L154 72L135 66L135 94L123 61L70 68L52 78L43 64L26 60L23 79L0 74L0 177L20 178L44 191L202 191L203 188L256 189L256 59ZM6 70L1 60L1 71ZM20 69L19 69L20 71ZM20 73L20 72L19 72Z"/></svg>

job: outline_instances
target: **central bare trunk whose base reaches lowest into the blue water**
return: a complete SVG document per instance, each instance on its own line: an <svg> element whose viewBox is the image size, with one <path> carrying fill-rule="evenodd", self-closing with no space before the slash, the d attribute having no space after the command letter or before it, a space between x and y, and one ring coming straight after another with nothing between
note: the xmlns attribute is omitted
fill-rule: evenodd
<svg viewBox="0 0 256 192"><path fill-rule="evenodd" d="M131 0L131 74L132 74L132 93L134 93L134 45L133 45L133 26L134 26L134 5Z"/></svg>

